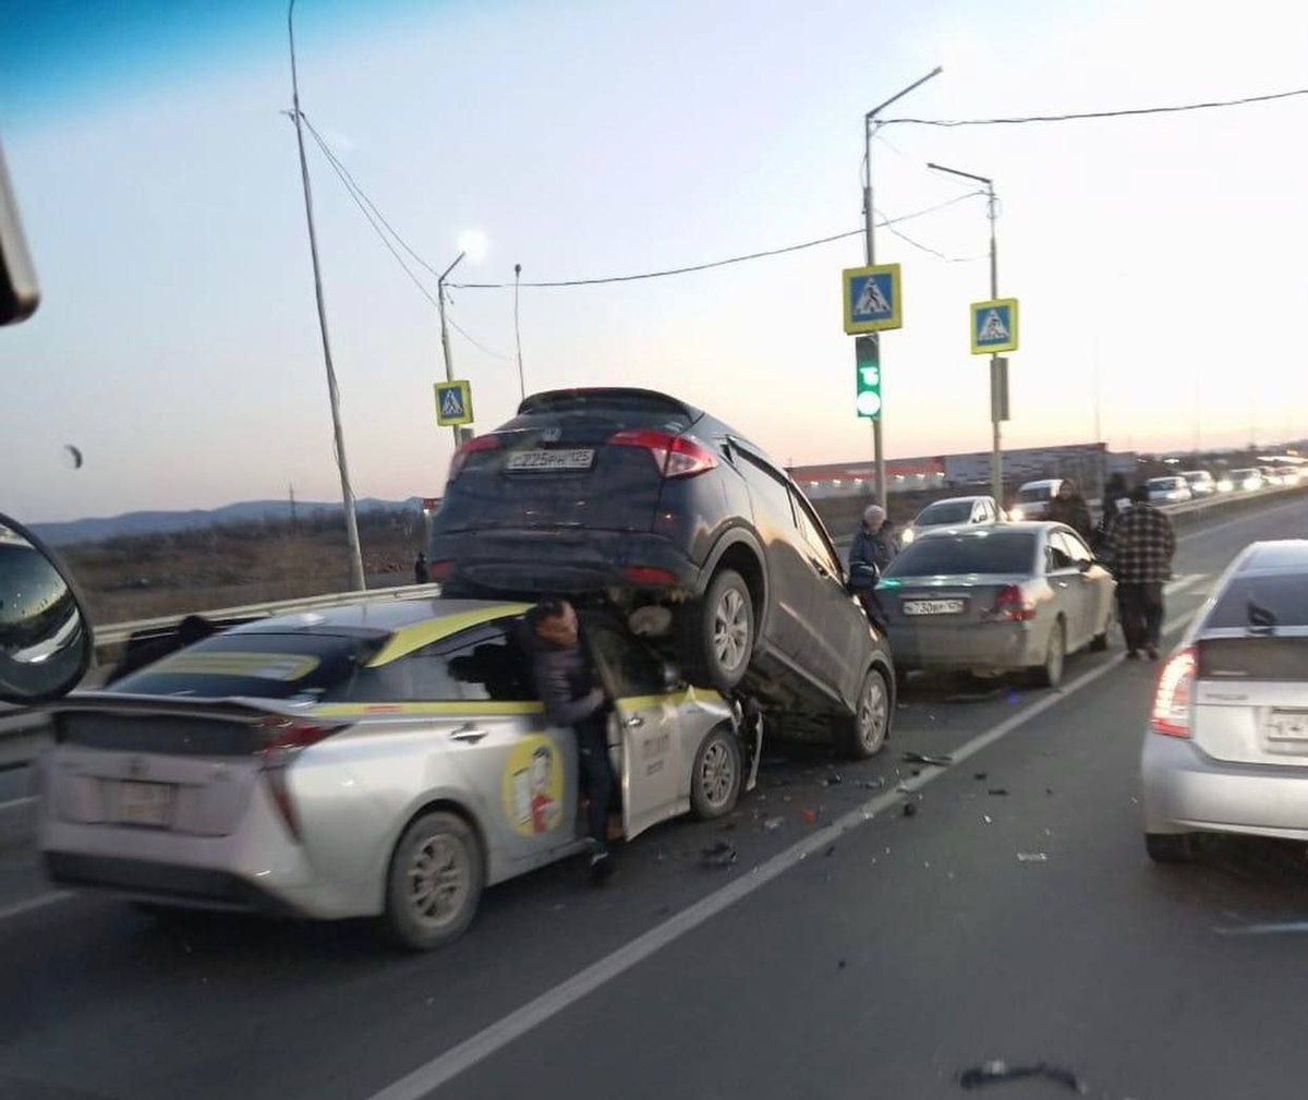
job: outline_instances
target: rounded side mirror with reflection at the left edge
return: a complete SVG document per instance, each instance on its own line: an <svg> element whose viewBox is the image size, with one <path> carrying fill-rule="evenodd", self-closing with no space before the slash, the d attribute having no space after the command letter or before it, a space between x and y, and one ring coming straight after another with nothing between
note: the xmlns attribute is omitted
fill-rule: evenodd
<svg viewBox="0 0 1308 1100"><path fill-rule="evenodd" d="M60 698L93 657L90 620L54 552L0 515L0 700Z"/></svg>

